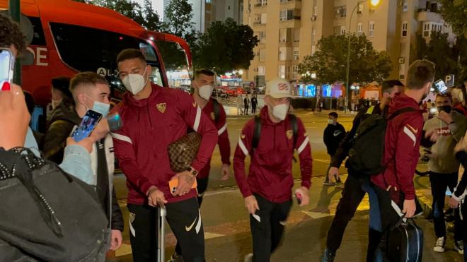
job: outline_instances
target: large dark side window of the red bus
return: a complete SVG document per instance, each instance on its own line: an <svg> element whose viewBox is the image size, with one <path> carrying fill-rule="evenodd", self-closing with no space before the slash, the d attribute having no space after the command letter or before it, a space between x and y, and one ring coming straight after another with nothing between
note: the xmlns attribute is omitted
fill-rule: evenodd
<svg viewBox="0 0 467 262"><path fill-rule="evenodd" d="M110 75L117 69L117 55L123 49L140 49L153 67L154 79L162 83L154 48L136 37L79 25L50 23L57 51L65 64L77 71ZM162 84L161 84L162 85Z"/></svg>

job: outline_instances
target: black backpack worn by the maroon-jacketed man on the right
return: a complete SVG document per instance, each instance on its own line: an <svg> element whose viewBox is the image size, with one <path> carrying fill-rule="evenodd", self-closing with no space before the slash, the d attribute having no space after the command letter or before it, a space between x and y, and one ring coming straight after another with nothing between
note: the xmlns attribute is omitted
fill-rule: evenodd
<svg viewBox="0 0 467 262"><path fill-rule="evenodd" d="M366 114L371 114L373 109L374 107L369 107ZM364 119L359 124L352 140L353 146L349 150L349 159L347 160L348 167L369 176L383 172L386 169L383 159L388 121L399 114L413 111L415 109L412 107L406 107L394 112L389 118L386 118L384 114L371 114Z"/></svg>

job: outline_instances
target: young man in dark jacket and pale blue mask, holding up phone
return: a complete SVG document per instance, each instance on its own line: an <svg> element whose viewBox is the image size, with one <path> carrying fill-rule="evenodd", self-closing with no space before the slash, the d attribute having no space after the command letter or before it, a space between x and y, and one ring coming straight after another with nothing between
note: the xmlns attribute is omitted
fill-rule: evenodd
<svg viewBox="0 0 467 262"><path fill-rule="evenodd" d="M105 117L110 109L110 88L108 81L97 73L78 73L70 81L69 87L74 98L74 106L66 107L62 102L52 116L49 130L45 134L45 157L58 160L63 155L65 141L71 132L81 124L88 109L93 109ZM101 121L106 121L102 119ZM112 229L110 249L115 250L122 244L123 217L120 206L117 203L115 190L113 189L113 171L115 155L113 153L113 139L108 134L97 141L91 151L91 169L93 176L76 177L96 186L98 197L103 209L109 218Z"/></svg>

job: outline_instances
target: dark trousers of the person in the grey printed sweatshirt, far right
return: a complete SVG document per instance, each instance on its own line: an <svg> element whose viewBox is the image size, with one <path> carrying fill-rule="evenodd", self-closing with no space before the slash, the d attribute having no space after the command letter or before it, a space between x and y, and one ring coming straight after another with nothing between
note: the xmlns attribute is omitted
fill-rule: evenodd
<svg viewBox="0 0 467 262"><path fill-rule="evenodd" d="M457 172L451 174L429 172L429 181L432 184L434 233L437 237L446 237L444 199L446 198L446 189L448 187L451 192L454 192L454 187L457 184ZM456 215L454 222L454 239L456 240L462 240L462 227L459 220L459 215Z"/></svg>

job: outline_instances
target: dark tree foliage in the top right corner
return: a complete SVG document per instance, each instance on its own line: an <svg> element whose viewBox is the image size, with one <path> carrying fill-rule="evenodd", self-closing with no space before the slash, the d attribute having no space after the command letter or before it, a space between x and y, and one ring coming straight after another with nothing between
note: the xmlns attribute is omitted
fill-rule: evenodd
<svg viewBox="0 0 467 262"><path fill-rule="evenodd" d="M456 35L467 37L467 0L439 0L441 15Z"/></svg>

